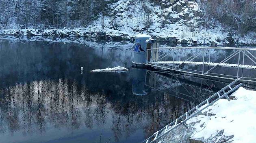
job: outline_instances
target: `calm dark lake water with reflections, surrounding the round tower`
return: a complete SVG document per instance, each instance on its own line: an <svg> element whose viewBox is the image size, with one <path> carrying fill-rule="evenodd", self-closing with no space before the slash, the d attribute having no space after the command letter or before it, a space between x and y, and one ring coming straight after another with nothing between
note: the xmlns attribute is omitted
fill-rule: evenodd
<svg viewBox="0 0 256 143"><path fill-rule="evenodd" d="M0 142L141 142L226 86L133 68L132 48L130 42L0 40ZM116 66L130 70L89 72Z"/></svg>

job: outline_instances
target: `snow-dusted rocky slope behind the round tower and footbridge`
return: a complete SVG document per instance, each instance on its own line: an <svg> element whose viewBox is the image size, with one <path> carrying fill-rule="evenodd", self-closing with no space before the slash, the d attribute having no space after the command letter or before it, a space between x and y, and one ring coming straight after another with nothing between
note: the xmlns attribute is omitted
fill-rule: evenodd
<svg viewBox="0 0 256 143"><path fill-rule="evenodd" d="M206 19L202 5L200 0L120 0L109 5L114 11L114 24L108 28L126 29L134 34L146 33L158 41L177 44L230 44L228 29L223 30L216 19ZM238 35L231 36L236 39ZM254 38L255 33L252 32L236 42L251 44L256 42Z"/></svg>

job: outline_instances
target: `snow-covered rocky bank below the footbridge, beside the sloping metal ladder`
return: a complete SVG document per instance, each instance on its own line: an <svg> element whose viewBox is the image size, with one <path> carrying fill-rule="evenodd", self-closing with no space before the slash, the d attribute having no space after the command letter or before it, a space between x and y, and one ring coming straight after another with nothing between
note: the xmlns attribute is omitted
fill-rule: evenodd
<svg viewBox="0 0 256 143"><path fill-rule="evenodd" d="M240 87L234 100L217 101L158 143L255 143L256 91Z"/></svg>

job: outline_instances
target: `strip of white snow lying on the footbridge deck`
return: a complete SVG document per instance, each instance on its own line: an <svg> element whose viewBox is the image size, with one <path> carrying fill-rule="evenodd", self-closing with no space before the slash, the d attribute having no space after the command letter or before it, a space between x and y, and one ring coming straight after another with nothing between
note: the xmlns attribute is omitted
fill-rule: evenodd
<svg viewBox="0 0 256 143"><path fill-rule="evenodd" d="M196 61L155 61L150 62L150 64L185 64L185 65L209 65L209 66L221 66L221 67L238 67L238 64L232 64L232 63L209 63L209 62L196 62ZM243 69L256 69L255 65L239 65L240 68Z"/></svg>

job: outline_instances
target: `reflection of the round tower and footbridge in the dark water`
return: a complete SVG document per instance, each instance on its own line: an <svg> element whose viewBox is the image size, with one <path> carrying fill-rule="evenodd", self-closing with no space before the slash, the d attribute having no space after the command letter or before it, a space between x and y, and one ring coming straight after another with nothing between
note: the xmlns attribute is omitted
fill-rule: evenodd
<svg viewBox="0 0 256 143"><path fill-rule="evenodd" d="M176 72L133 68L132 91L135 95L147 95L150 89L184 101L200 103L228 83L227 80L218 81Z"/></svg>

